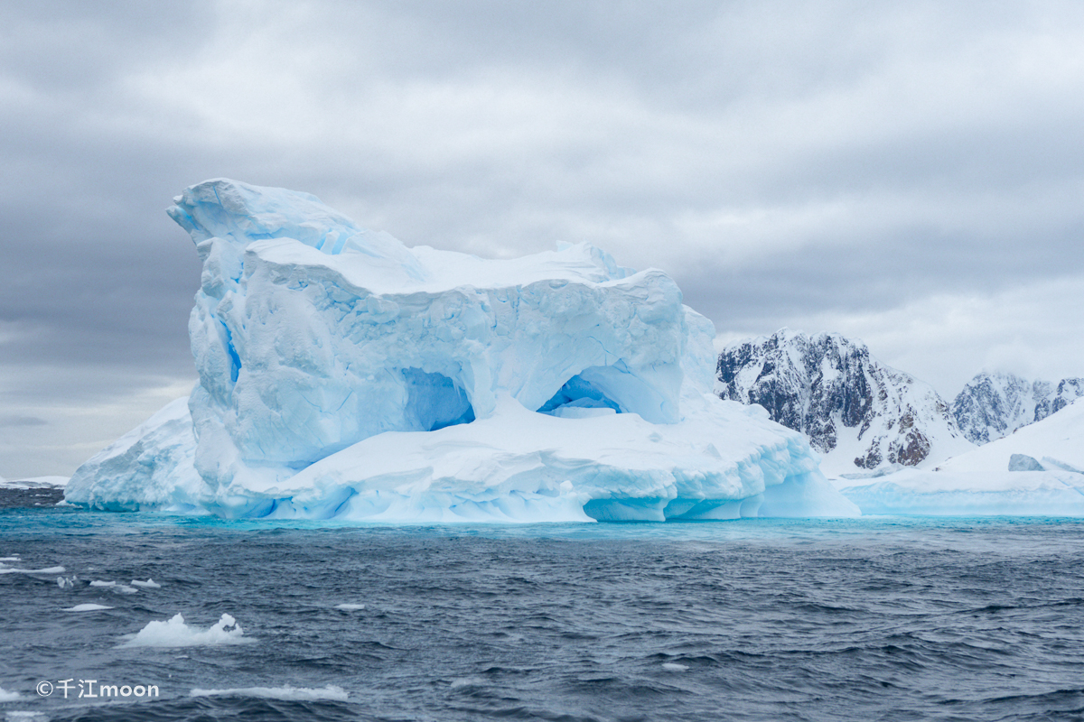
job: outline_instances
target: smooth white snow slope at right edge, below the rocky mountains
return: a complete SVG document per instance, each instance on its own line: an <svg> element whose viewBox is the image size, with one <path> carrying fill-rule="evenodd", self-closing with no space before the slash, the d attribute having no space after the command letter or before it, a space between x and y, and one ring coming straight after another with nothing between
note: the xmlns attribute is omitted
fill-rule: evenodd
<svg viewBox="0 0 1084 722"><path fill-rule="evenodd" d="M1014 455L1042 471L1010 471ZM842 493L864 514L1084 516L1084 399L935 470L854 480Z"/></svg>

